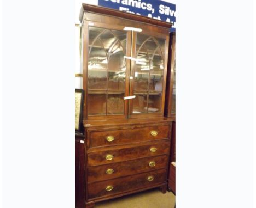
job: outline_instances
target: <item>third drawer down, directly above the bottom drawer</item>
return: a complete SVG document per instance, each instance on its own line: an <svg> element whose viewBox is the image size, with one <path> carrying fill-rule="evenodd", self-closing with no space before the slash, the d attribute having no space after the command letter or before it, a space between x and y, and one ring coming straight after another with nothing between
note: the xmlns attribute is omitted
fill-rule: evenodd
<svg viewBox="0 0 256 208"><path fill-rule="evenodd" d="M90 183L165 168L167 164L168 155L147 157L138 160L88 167L87 177Z"/></svg>

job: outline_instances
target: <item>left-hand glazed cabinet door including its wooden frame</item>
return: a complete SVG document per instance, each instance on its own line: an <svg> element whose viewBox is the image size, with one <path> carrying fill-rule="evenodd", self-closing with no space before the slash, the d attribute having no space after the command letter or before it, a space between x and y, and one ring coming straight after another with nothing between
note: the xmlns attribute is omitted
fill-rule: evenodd
<svg viewBox="0 0 256 208"><path fill-rule="evenodd" d="M86 107L88 119L127 117L129 96L131 32L123 27L87 22L88 69ZM88 36L87 36L88 35Z"/></svg>

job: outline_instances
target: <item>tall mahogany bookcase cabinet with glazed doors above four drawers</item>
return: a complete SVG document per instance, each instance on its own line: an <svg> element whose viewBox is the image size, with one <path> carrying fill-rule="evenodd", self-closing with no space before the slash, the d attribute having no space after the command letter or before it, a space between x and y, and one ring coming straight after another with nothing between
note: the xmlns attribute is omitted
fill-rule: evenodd
<svg viewBox="0 0 256 208"><path fill-rule="evenodd" d="M171 23L88 4L82 4L80 22L85 99L77 206L150 188L165 193L173 121L164 116Z"/></svg>

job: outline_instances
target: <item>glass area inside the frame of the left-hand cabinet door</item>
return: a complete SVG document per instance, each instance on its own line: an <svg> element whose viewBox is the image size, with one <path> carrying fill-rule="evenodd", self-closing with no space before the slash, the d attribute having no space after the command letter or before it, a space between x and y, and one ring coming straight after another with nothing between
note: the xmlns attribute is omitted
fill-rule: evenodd
<svg viewBox="0 0 256 208"><path fill-rule="evenodd" d="M89 27L89 115L124 114L126 39L124 31ZM104 96L95 94L95 90L104 91ZM109 90L115 93L109 93ZM94 102L96 106L90 105L90 101L101 104ZM97 111L95 108L98 108Z"/></svg>

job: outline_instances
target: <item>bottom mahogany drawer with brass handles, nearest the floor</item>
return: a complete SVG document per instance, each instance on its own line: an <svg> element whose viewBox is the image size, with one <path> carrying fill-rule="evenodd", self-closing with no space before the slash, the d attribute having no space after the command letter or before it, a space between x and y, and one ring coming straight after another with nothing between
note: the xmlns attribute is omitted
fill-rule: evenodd
<svg viewBox="0 0 256 208"><path fill-rule="evenodd" d="M89 199L93 199L129 192L158 184L161 185L166 182L166 176L166 169L160 169L118 179L90 183L88 184L88 197Z"/></svg>

